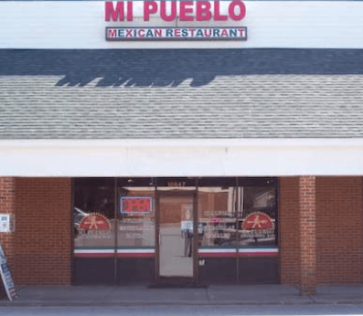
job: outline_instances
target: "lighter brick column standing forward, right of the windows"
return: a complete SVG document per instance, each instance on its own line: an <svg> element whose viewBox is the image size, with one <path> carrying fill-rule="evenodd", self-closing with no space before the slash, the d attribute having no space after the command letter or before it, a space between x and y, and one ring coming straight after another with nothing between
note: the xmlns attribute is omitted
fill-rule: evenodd
<svg viewBox="0 0 363 316"><path fill-rule="evenodd" d="M314 295L316 289L315 267L315 176L299 178L300 226L300 294Z"/></svg>

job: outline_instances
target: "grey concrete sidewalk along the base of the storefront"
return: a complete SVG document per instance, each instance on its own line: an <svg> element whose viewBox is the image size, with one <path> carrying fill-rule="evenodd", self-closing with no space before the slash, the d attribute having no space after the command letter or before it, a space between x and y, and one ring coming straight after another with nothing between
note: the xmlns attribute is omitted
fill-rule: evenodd
<svg viewBox="0 0 363 316"><path fill-rule="evenodd" d="M148 289L146 286L26 287L1 306L198 306L363 304L363 285L319 286L315 296L300 296L286 285L212 285L205 289Z"/></svg>

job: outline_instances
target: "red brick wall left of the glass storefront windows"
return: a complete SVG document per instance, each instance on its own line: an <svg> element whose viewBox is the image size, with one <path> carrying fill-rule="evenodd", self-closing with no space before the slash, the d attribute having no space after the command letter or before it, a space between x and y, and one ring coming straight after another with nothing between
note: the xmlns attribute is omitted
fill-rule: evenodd
<svg viewBox="0 0 363 316"><path fill-rule="evenodd" d="M70 284L70 179L11 181L16 232L6 252L16 285Z"/></svg>

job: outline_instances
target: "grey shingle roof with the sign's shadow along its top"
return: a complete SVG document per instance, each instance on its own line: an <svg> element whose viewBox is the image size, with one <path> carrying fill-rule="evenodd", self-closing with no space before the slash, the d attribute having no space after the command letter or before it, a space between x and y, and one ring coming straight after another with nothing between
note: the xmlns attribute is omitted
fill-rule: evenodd
<svg viewBox="0 0 363 316"><path fill-rule="evenodd" d="M337 49L3 50L0 139L361 138L362 61Z"/></svg>

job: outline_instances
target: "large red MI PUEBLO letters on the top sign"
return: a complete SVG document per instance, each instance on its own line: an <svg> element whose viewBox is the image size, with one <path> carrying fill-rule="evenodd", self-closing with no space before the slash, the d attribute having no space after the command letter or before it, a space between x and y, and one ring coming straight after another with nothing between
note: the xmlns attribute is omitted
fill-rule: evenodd
<svg viewBox="0 0 363 316"><path fill-rule="evenodd" d="M106 1L105 21L133 21L133 1ZM230 1L228 11L221 14L219 1L144 1L144 21L160 16L164 21L240 21L246 16L242 1Z"/></svg>

